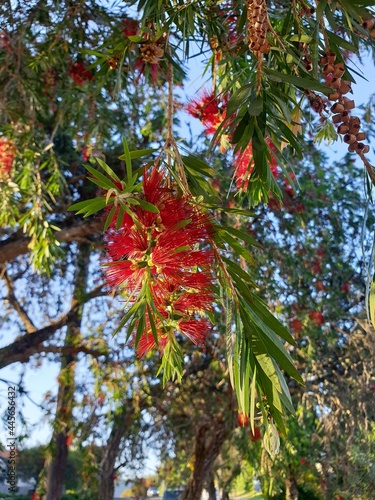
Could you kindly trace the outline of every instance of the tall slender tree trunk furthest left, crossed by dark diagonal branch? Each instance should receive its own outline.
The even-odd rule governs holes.
[[[86,292],[90,248],[82,244],[77,256],[73,301],[80,301]],[[80,336],[83,305],[77,308],[74,318],[67,325],[64,347],[73,347]],[[58,377],[57,407],[54,431],[46,460],[47,480],[45,500],[60,500],[64,490],[69,440],[71,439],[72,411],[75,390],[76,355],[63,354]]]

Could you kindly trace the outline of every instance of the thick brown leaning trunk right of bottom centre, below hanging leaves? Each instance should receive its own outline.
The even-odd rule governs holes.
[[[182,493],[181,500],[201,498],[205,479],[220,453],[220,449],[229,435],[229,426],[224,421],[202,424],[195,438],[194,470]]]

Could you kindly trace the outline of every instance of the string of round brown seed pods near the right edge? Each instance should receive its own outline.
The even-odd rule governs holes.
[[[361,120],[358,116],[351,115],[351,110],[355,108],[355,102],[346,97],[346,94],[351,91],[351,82],[342,79],[345,73],[345,64],[335,61],[336,54],[334,52],[327,52],[320,59],[323,65],[323,74],[329,80],[328,85],[333,90],[328,98],[330,101],[336,101],[331,107],[332,121],[337,125],[337,132],[343,135],[343,141],[348,144],[349,152],[368,153],[370,147],[361,142],[366,139],[366,133],[361,132]]]

